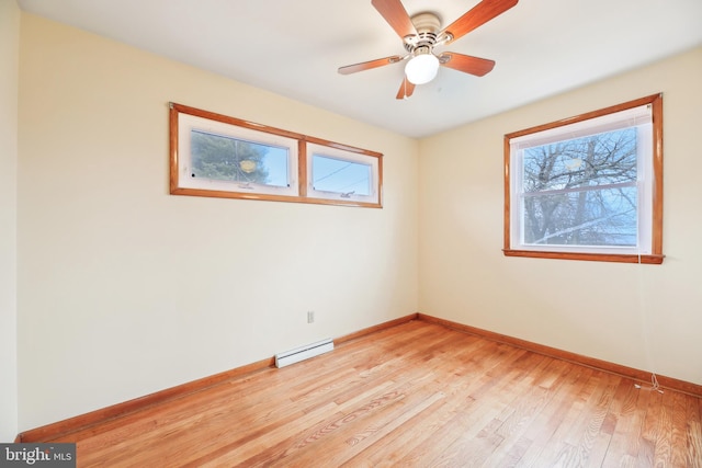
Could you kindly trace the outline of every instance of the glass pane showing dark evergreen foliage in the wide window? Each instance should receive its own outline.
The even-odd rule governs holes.
[[[287,148],[191,130],[192,178],[290,185]]]

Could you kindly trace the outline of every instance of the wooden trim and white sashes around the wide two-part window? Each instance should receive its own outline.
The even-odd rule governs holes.
[[[278,136],[297,141],[296,157],[296,194],[295,195],[279,195],[271,193],[250,193],[240,192],[236,190],[208,190],[202,187],[185,186],[186,184],[181,181],[181,162],[185,158],[183,151],[190,151],[190,148],[180,148],[180,115],[185,114],[189,116],[201,117],[207,121],[214,121],[216,123],[224,123],[236,127],[246,128],[249,130],[261,133],[263,136]],[[216,198],[239,198],[239,199],[260,199],[271,202],[293,202],[293,203],[308,203],[319,205],[338,205],[338,206],[355,206],[365,208],[382,208],[383,207],[383,155],[376,151],[371,151],[362,148],[356,148],[349,145],[338,144],[321,138],[312,137],[308,135],[298,134],[295,132],[288,132],[281,128],[270,127],[241,118],[230,117],[223,114],[217,114],[210,111],[203,111],[201,109],[191,107],[183,104],[169,103],[169,127],[170,127],[170,193],[171,195],[190,195],[190,196],[204,196]],[[359,157],[369,158],[369,163],[374,168],[373,180],[373,196],[364,197],[363,199],[353,197],[333,197],[330,195],[315,196],[309,194],[308,190],[308,167],[312,163],[312,155],[308,156],[308,145],[320,145],[333,149],[337,153],[347,152],[350,158],[358,159]]]

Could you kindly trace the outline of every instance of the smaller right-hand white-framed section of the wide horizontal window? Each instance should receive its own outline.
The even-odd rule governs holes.
[[[307,145],[307,196],[380,204],[381,159],[339,147]]]

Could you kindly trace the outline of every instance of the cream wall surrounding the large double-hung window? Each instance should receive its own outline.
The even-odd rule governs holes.
[[[697,48],[422,140],[420,311],[702,384],[700,82]],[[505,258],[503,135],[657,92],[664,264]]]

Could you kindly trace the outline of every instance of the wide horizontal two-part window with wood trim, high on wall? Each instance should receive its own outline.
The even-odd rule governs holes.
[[[170,193],[382,207],[383,155],[170,104]]]

